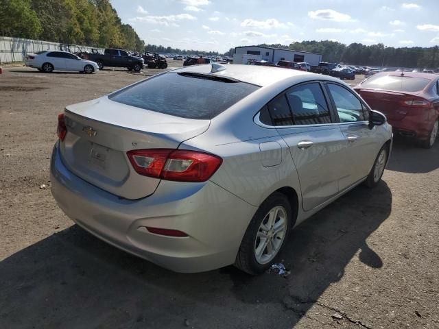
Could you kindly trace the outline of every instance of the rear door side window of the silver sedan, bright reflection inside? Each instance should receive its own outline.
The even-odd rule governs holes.
[[[296,125],[331,123],[331,115],[320,84],[296,86],[287,90],[286,95]]]

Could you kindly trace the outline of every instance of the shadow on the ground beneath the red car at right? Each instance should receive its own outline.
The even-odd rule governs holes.
[[[429,173],[439,168],[439,138],[423,149],[409,138],[395,138],[387,169],[403,173]]]

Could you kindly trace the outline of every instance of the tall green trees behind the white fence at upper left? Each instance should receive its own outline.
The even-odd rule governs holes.
[[[144,51],[110,0],[0,0],[0,36]]]

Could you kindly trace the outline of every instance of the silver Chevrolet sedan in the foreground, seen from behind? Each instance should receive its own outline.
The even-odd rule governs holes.
[[[361,182],[376,186],[392,146],[384,115],[334,77],[220,64],[67,106],[58,136],[60,208],[180,272],[262,273],[294,226]]]

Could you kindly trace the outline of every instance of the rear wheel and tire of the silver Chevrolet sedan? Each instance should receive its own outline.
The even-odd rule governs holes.
[[[285,246],[293,222],[292,214],[291,205],[282,193],[275,192],[265,199],[248,225],[239,246],[235,266],[251,275],[269,269]],[[276,223],[280,230],[278,233],[274,231]],[[269,249],[272,250],[271,253]]]

